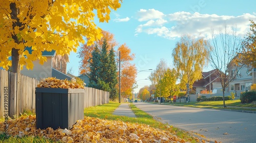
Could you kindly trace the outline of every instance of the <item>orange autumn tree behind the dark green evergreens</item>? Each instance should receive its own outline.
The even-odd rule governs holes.
[[[121,92],[122,95],[126,97],[126,95],[131,95],[133,90],[133,85],[135,83],[135,78],[137,75],[136,66],[131,64],[130,62],[134,60],[135,54],[131,53],[131,49],[124,43],[119,45],[116,39],[114,38],[114,34],[103,31],[103,37],[100,40],[95,41],[92,45],[84,44],[80,47],[78,53],[78,57],[80,60],[80,74],[88,74],[90,72],[89,68],[89,59],[92,57],[93,50],[97,47],[101,49],[104,39],[108,45],[108,51],[113,47],[116,49],[116,61],[119,63],[119,51],[121,53],[120,62],[121,62]],[[118,63],[116,64],[118,66]],[[119,73],[118,73],[119,74]],[[119,77],[117,77],[119,78]],[[119,80],[119,79],[118,79]],[[117,85],[119,87],[119,83]],[[118,88],[117,87],[117,88]]]

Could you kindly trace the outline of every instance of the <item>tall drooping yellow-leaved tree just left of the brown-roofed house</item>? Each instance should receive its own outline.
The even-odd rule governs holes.
[[[202,78],[203,66],[208,57],[207,45],[204,38],[196,39],[188,35],[176,43],[173,57],[181,89],[190,88],[196,80]]]

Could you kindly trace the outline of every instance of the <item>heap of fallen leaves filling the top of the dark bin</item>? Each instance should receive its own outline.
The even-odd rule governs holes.
[[[45,88],[84,88],[83,85],[68,80],[60,80],[53,77],[45,78],[37,84],[37,87]]]

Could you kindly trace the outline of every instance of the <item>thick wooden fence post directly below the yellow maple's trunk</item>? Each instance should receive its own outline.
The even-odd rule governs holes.
[[[16,114],[17,74],[9,72],[8,75],[10,77],[9,116],[13,118]]]

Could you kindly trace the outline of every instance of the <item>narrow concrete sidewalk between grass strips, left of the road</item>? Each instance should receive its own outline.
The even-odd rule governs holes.
[[[119,116],[129,116],[129,117],[136,117],[132,109],[129,107],[129,104],[122,103],[116,108],[116,110],[113,112],[114,115]]]

